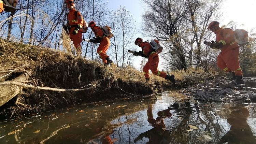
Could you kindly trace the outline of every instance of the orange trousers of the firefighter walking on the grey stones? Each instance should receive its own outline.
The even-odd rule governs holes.
[[[238,57],[239,47],[232,48],[224,54],[221,52],[217,57],[217,66],[224,72],[232,71],[237,76],[243,75]]]

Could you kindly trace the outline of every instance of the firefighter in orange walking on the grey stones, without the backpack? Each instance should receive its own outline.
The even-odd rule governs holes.
[[[211,48],[221,49],[217,57],[217,66],[224,72],[232,72],[232,80],[236,79],[237,84],[244,84],[243,73],[239,64],[239,46],[234,41],[234,32],[231,29],[223,29],[219,27],[217,21],[209,24],[208,30],[216,34],[216,43]]]

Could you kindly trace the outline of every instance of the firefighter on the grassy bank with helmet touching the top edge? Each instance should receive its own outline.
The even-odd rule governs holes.
[[[65,0],[68,13],[68,23],[63,26],[66,32],[69,34],[70,39],[75,45],[76,54],[82,55],[81,42],[82,42],[82,27],[83,27],[83,17],[80,12],[76,12],[74,0]],[[75,15],[76,12],[76,15]]]

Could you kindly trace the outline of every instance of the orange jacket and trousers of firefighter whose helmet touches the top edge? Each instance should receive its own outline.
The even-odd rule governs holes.
[[[84,24],[83,17],[80,12],[76,13],[75,16],[75,9],[69,10],[68,14],[68,24],[71,26],[71,29],[69,30],[70,39],[73,41],[73,44],[75,45],[76,52],[81,53],[81,42],[82,42],[82,27]],[[79,26],[80,30],[76,35],[72,34],[72,32],[75,29],[75,26]]]

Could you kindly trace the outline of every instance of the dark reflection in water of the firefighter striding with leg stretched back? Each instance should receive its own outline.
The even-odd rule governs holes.
[[[169,131],[165,130],[166,126],[163,119],[171,116],[172,114],[170,113],[170,110],[167,109],[157,112],[157,118],[154,119],[152,105],[149,105],[147,110],[147,121],[154,128],[139,134],[139,136],[134,139],[134,143],[145,137],[149,139],[147,144],[169,144],[171,136]]]

